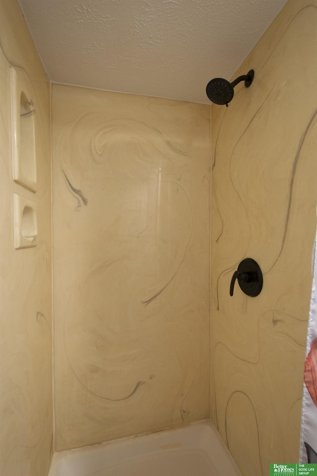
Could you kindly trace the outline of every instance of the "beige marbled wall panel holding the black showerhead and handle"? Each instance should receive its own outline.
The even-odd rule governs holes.
[[[244,476],[298,461],[317,204],[317,2],[291,0],[212,107],[212,419]],[[259,297],[230,280],[254,258]]]

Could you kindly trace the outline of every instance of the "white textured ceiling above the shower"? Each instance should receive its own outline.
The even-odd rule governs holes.
[[[286,0],[19,2],[51,81],[210,104]]]

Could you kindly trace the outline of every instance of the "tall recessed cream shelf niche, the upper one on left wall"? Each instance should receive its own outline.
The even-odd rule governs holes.
[[[11,67],[13,179],[36,192],[35,91],[23,69]]]

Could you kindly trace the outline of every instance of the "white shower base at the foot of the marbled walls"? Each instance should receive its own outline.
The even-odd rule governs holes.
[[[49,476],[242,476],[209,420],[55,453]]]

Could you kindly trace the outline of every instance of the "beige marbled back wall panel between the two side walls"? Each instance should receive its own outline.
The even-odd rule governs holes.
[[[53,86],[56,449],[209,416],[210,108]]]

